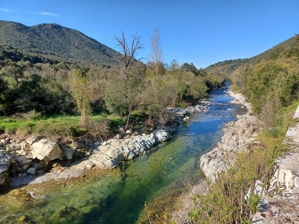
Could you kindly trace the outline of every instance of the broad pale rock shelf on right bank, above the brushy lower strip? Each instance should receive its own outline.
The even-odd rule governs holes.
[[[248,152],[248,146],[254,142],[255,137],[262,130],[262,123],[257,117],[250,115],[252,105],[246,102],[245,97],[230,90],[227,93],[235,98],[231,103],[247,107],[248,113],[237,115],[236,122],[226,124],[221,141],[212,151],[200,158],[200,168],[205,177],[212,182],[215,181],[215,174],[226,172],[238,161],[237,154]]]

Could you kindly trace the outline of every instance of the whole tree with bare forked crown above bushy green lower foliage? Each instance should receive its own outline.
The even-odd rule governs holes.
[[[121,31],[121,37],[114,37],[118,41],[122,60],[117,60],[122,66],[108,74],[105,93],[107,108],[112,113],[127,116],[126,127],[129,125],[131,112],[143,104],[144,66],[141,59],[136,59],[137,51],[144,49],[141,37],[137,33],[132,35],[132,44],[128,44]],[[138,63],[139,62],[139,63]]]

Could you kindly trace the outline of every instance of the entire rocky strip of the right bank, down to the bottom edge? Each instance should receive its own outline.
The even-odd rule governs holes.
[[[258,144],[255,142],[257,134],[262,131],[262,122],[257,117],[250,115],[252,105],[246,102],[245,97],[239,93],[233,93],[231,90],[226,92],[233,96],[233,104],[245,106],[248,112],[245,115],[237,115],[236,122],[229,122],[223,129],[224,135],[215,148],[203,154],[200,158],[200,168],[204,177],[199,180],[199,183],[191,187],[185,194],[177,200],[177,205],[180,208],[172,213],[171,219],[178,223],[184,223],[188,220],[188,213],[193,210],[194,202],[191,198],[196,194],[205,194],[208,189],[208,184],[205,181],[209,179],[211,185],[215,183],[215,174],[226,173],[239,157],[237,154],[248,152],[251,144]],[[192,183],[188,184],[192,186]]]

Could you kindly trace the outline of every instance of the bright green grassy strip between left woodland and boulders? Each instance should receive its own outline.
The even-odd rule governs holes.
[[[146,116],[138,111],[132,113],[132,124],[134,127]],[[119,125],[125,124],[125,118],[109,115],[107,113],[93,114],[90,117],[93,125],[106,127],[105,135],[117,132]],[[0,131],[4,135],[16,135],[26,137],[28,135],[41,135],[59,142],[68,142],[74,138],[85,135],[91,126],[80,125],[80,116],[70,116],[64,114],[54,114],[40,116],[36,119],[19,117],[0,117]],[[105,127],[104,127],[105,126]]]

